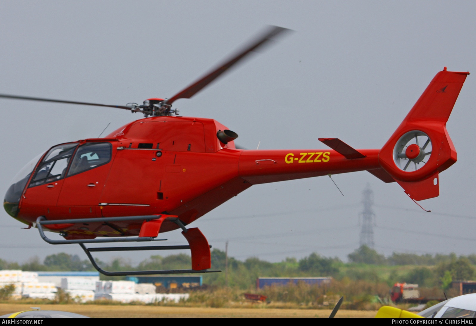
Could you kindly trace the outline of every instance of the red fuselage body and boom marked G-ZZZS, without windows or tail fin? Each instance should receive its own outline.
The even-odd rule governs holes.
[[[53,187],[27,188],[17,218],[35,222],[83,217],[167,213],[193,222],[253,184],[309,178],[328,173],[379,168],[378,150],[359,150],[347,159],[334,150],[241,150],[221,143],[212,119],[158,117],[132,122],[107,138],[107,164],[56,181]],[[79,148],[81,145],[79,145]],[[165,220],[160,232],[178,228]],[[140,223],[89,223],[65,226],[71,237],[137,236]]]

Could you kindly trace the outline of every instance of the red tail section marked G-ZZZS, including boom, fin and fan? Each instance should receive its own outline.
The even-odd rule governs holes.
[[[384,182],[397,181],[412,199],[436,197],[439,172],[456,162],[446,121],[468,74],[438,72],[380,150],[357,150],[338,138],[319,138],[333,149],[243,150],[239,178],[260,184],[367,170]],[[410,163],[413,171],[407,170]]]

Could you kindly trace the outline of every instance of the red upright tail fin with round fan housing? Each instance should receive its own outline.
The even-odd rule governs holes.
[[[437,197],[438,173],[456,162],[446,121],[467,75],[446,67],[438,72],[378,154],[381,167],[412,199]]]

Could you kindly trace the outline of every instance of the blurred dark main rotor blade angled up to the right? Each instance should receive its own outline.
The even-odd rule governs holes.
[[[244,49],[238,51],[238,53],[233,56],[231,59],[219,65],[216,69],[208,73],[208,75],[198,79],[195,83],[188,86],[186,89],[183,89],[178,94],[174,95],[172,98],[168,99],[166,104],[172,104],[176,99],[190,99],[192,96],[197,94],[200,90],[205,88],[209,83],[218,78],[222,73],[231,68],[234,64],[238,63],[241,59],[245,58],[248,53],[254,52],[259,48],[262,48],[264,45],[268,44],[275,36],[282,34],[283,32],[290,31],[283,27],[278,26],[269,26],[263,35],[259,36],[257,39],[250,41]]]

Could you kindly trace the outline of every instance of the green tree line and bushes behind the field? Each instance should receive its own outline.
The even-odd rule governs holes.
[[[212,286],[238,286],[247,288],[255,284],[257,277],[322,277],[331,276],[337,280],[383,282],[392,286],[395,282],[416,283],[419,286],[447,288],[454,280],[471,280],[475,277],[476,255],[416,255],[393,253],[385,257],[376,250],[361,246],[348,254],[348,262],[337,257],[322,257],[312,253],[302,259],[288,257],[278,263],[270,263],[257,257],[244,261],[228,257],[228,275],[225,275],[225,252],[213,249],[211,263],[213,269],[222,273],[203,275],[205,284]],[[189,269],[191,258],[187,254],[162,257],[151,256],[132,266],[127,259],[113,258],[109,262],[97,260],[101,268],[109,271]],[[43,262],[32,257],[19,264],[0,259],[0,269],[21,269],[33,271],[92,271],[89,260],[81,260],[78,255],[59,253],[45,257]],[[110,279],[109,277],[108,279]],[[119,279],[121,277],[115,277]],[[106,279],[106,278],[105,278]]]

